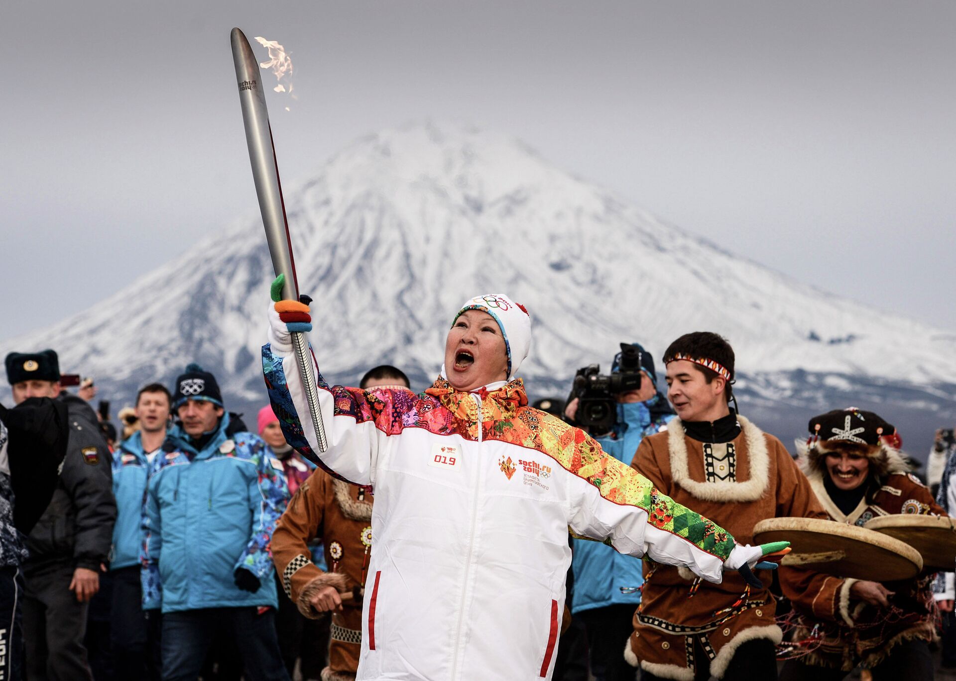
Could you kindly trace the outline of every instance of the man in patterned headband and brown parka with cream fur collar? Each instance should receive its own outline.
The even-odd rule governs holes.
[[[687,333],[663,357],[678,418],[641,440],[631,464],[674,500],[715,519],[741,543],[765,518],[826,518],[790,453],[729,407],[734,355],[706,331]],[[770,570],[764,588],[728,573],[713,585],[688,570],[644,562],[641,607],[624,651],[642,681],[775,679],[782,631]]]

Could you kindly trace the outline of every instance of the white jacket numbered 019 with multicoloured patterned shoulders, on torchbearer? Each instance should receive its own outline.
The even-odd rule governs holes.
[[[551,678],[569,527],[721,581],[733,538],[529,407],[520,379],[460,393],[440,378],[413,394],[319,377],[318,456],[293,355],[266,345],[263,369],[289,443],[375,489],[359,680]]]

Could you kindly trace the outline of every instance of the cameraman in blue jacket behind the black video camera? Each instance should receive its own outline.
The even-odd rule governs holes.
[[[617,419],[610,432],[592,433],[601,449],[628,465],[641,439],[665,430],[666,423],[674,418],[669,403],[658,392],[654,358],[638,343],[631,347],[640,353],[641,386],[615,395]],[[621,352],[615,356],[612,373],[621,371],[621,357]],[[569,419],[575,420],[578,404],[577,397],[568,403],[565,415]],[[586,540],[573,540],[572,549],[572,613],[580,617],[587,630],[591,672],[597,681],[633,679],[634,668],[625,662],[623,653],[634,630],[634,611],[641,603],[641,561]]]

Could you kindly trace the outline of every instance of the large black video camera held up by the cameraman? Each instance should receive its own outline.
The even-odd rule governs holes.
[[[641,351],[628,343],[620,344],[619,372],[603,375],[600,365],[578,369],[571,389],[577,398],[575,420],[595,435],[610,432],[618,420],[621,393],[641,390]]]

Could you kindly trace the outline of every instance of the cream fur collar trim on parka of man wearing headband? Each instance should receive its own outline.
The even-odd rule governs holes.
[[[770,455],[764,432],[741,415],[737,416],[747,442],[748,473],[746,482],[701,482],[690,479],[687,469],[687,442],[680,418],[667,424],[667,449],[670,452],[670,475],[691,496],[706,501],[755,501],[764,496],[770,482]]]

